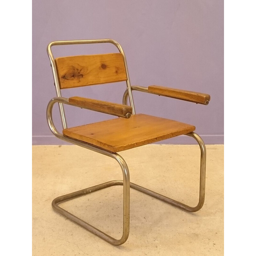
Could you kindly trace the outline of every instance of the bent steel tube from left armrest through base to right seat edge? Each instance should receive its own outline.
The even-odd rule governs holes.
[[[66,98],[60,98],[60,97],[56,97],[53,98],[48,106],[47,106],[47,111],[46,111],[46,115],[47,115],[47,122],[48,125],[52,131],[52,133],[59,139],[61,140],[65,140],[68,141],[72,144],[78,145],[80,147],[83,148],[87,148],[90,149],[92,151],[98,152],[100,154],[103,154],[105,156],[109,156],[111,158],[114,158],[118,164],[120,165],[121,169],[122,169],[122,173],[123,173],[123,180],[111,180],[90,188],[85,188],[64,196],[59,196],[57,198],[55,198],[52,201],[52,207],[55,211],[59,212],[60,214],[64,215],[65,217],[67,217],[68,219],[76,222],[78,225],[82,226],[83,228],[89,230],[90,232],[92,232],[93,234],[99,236],[100,238],[104,239],[105,241],[107,241],[110,244],[113,245],[121,245],[123,244],[129,236],[129,230],[130,230],[130,187],[134,188],[142,193],[145,193],[149,196],[153,196],[161,201],[164,201],[168,204],[172,204],[182,210],[188,211],[188,212],[196,212],[198,210],[200,210],[204,204],[204,197],[205,197],[205,172],[206,172],[206,148],[204,145],[204,141],[200,138],[199,135],[197,135],[195,132],[190,132],[186,135],[193,137],[197,143],[199,144],[200,147],[200,151],[201,151],[201,158],[200,158],[200,185],[199,185],[199,201],[198,204],[195,207],[191,207],[188,206],[186,204],[183,204],[181,202],[178,202],[176,200],[173,200],[169,197],[163,196],[161,194],[158,194],[152,190],[149,190],[147,188],[141,187],[137,184],[131,183],[130,182],[130,174],[129,174],[129,169],[128,166],[126,164],[126,162],[124,161],[123,157],[120,156],[117,153],[112,153],[108,150],[105,150],[103,148],[98,148],[96,146],[93,146],[91,144],[85,143],[83,141],[80,140],[75,140],[69,137],[65,137],[63,134],[61,134],[60,132],[58,132],[58,130],[56,129],[56,127],[54,126],[53,120],[52,120],[52,108],[53,105],[55,103],[64,103],[64,104],[69,104],[68,103],[68,99]],[[84,220],[79,219],[78,217],[76,217],[75,215],[67,212],[66,210],[64,210],[63,208],[61,208],[58,204],[66,201],[66,200],[70,200],[74,197],[77,196],[82,196],[103,188],[107,188],[110,186],[115,186],[115,185],[123,185],[123,235],[120,239],[115,239],[109,235],[107,235],[106,233],[104,233],[103,231],[93,227],[92,225],[90,225],[89,223],[85,222]]]

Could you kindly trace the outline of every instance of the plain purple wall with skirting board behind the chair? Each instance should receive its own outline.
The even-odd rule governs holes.
[[[33,144],[66,144],[52,135],[46,122],[46,106],[56,96],[47,45],[55,40],[100,38],[122,45],[132,85],[156,84],[211,95],[204,106],[133,92],[137,113],[193,124],[205,143],[223,144],[223,19],[223,0],[33,1]],[[55,57],[116,52],[111,44],[52,49]],[[87,86],[62,90],[62,96],[122,103],[125,88],[125,83]],[[69,127],[111,118],[72,106],[65,111]],[[57,105],[53,117],[60,123]],[[194,144],[194,140],[179,136],[161,143]]]

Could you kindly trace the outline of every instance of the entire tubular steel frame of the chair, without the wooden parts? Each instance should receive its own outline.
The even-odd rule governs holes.
[[[206,148],[204,145],[204,141],[201,139],[201,137],[196,134],[195,132],[190,132],[187,133],[185,135],[193,137],[199,147],[200,147],[200,151],[201,151],[201,158],[200,158],[200,184],[199,184],[199,201],[198,204],[195,207],[191,207],[188,206],[186,204],[180,203],[176,200],[173,200],[169,197],[160,195],[154,191],[151,191],[147,188],[143,188],[137,184],[134,184],[132,182],[130,182],[130,174],[129,174],[129,169],[128,166],[126,164],[126,162],[124,161],[123,157],[120,156],[117,153],[112,153],[108,150],[105,150],[103,148],[99,148],[96,147],[94,145],[88,144],[86,142],[80,141],[80,140],[76,140],[76,139],[72,139],[69,137],[64,136],[62,133],[58,132],[58,130],[56,129],[55,125],[53,124],[53,120],[52,120],[52,108],[53,105],[55,103],[59,103],[59,108],[60,108],[60,116],[61,116],[61,121],[62,121],[62,126],[63,129],[67,128],[67,122],[66,122],[66,117],[65,117],[65,112],[64,112],[64,108],[63,108],[63,104],[68,104],[71,105],[68,102],[68,99],[61,97],[61,92],[60,92],[60,85],[59,85],[59,80],[58,80],[58,75],[57,75],[57,69],[56,69],[56,65],[55,65],[55,60],[53,58],[52,55],[52,51],[51,51],[51,46],[53,45],[65,45],[65,44],[94,44],[94,43],[111,43],[114,44],[120,53],[123,54],[124,56],[124,64],[125,64],[125,69],[126,69],[126,75],[127,75],[127,81],[126,81],[126,85],[127,85],[127,89],[124,92],[124,97],[123,97],[123,104],[127,105],[127,98],[129,96],[130,99],[130,104],[132,106],[132,114],[135,114],[135,108],[134,108],[134,103],[133,103],[133,98],[132,98],[132,90],[137,90],[137,91],[142,91],[142,92],[147,92],[148,88],[146,87],[142,87],[142,86],[131,86],[130,84],[130,78],[129,78],[129,74],[128,74],[128,69],[127,69],[127,63],[126,63],[126,58],[124,55],[124,51],[122,49],[122,47],[120,46],[120,44],[118,44],[116,41],[112,40],[112,39],[99,39],[99,40],[73,40],[73,41],[55,41],[52,42],[48,45],[47,47],[47,53],[49,55],[49,58],[51,60],[51,66],[52,66],[52,71],[53,71],[53,77],[54,77],[54,83],[55,83],[55,87],[56,87],[56,92],[57,92],[57,97],[53,98],[52,100],[50,100],[48,106],[47,106],[47,111],[46,111],[46,115],[47,115],[47,122],[48,125],[52,131],[52,133],[59,138],[60,140],[65,140],[68,141],[72,144],[75,144],[77,146],[83,147],[83,148],[87,148],[90,149],[92,151],[98,152],[100,154],[103,154],[105,156],[109,156],[111,158],[114,158],[118,164],[121,167],[121,170],[123,172],[123,180],[111,180],[90,188],[85,188],[64,196],[59,196],[57,198],[55,198],[52,201],[52,208],[59,212],[60,214],[64,215],[65,217],[67,217],[68,219],[76,222],[78,225],[82,226],[83,228],[91,231],[93,234],[99,236],[100,238],[104,239],[105,241],[107,241],[110,244],[113,245],[120,245],[123,244],[129,236],[129,230],[130,230],[130,188],[134,188],[136,190],[139,190],[149,196],[153,196],[161,201],[164,201],[168,204],[172,204],[176,207],[179,207],[182,210],[188,211],[188,212],[196,212],[198,210],[200,210],[204,204],[204,197],[205,197],[205,172],[206,172]],[[77,196],[82,196],[103,188],[108,188],[111,186],[116,186],[116,185],[123,185],[123,235],[120,239],[115,239],[109,235],[107,235],[106,233],[102,232],[101,230],[93,227],[92,225],[90,225],[89,223],[85,222],[84,220],[79,219],[78,217],[76,217],[75,215],[67,212],[66,210],[64,210],[63,208],[61,208],[58,204],[66,201],[66,200],[70,200],[72,198],[75,198]]]

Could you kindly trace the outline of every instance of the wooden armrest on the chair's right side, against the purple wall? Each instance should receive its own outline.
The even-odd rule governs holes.
[[[158,85],[148,86],[148,92],[153,94],[158,94],[161,96],[174,98],[174,99],[186,100],[190,102],[204,104],[204,105],[208,105],[211,99],[211,96],[209,94],[184,91],[184,90],[173,89],[173,88],[158,86]]]

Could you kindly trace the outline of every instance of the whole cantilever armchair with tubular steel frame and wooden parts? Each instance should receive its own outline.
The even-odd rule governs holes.
[[[54,59],[51,51],[51,47],[56,45],[95,43],[114,44],[119,50],[119,53],[81,55]],[[108,243],[114,245],[123,244],[129,236],[130,188],[139,190],[188,212],[196,212],[200,210],[204,204],[205,195],[206,149],[203,140],[194,132],[196,127],[166,118],[136,114],[132,91],[137,90],[153,93],[204,105],[209,103],[210,95],[156,85],[148,87],[131,86],[124,51],[121,45],[112,39],[55,41],[48,45],[47,53],[51,61],[54,84],[57,93],[57,97],[52,98],[47,106],[47,122],[50,130],[60,140],[65,140],[74,145],[114,158],[120,165],[123,173],[123,180],[111,180],[55,198],[52,201],[53,209],[68,219],[76,222],[83,228],[91,231],[93,234],[106,240]],[[120,81],[126,81],[127,85],[124,92],[123,104],[87,99],[78,96],[74,96],[69,99],[61,96],[62,89]],[[130,106],[128,106],[127,103],[128,98]],[[62,132],[59,132],[56,129],[52,119],[52,108],[55,103],[58,103],[60,108],[63,127]],[[65,104],[107,113],[118,116],[118,118],[68,128],[64,112]],[[200,191],[198,204],[196,206],[188,206],[130,182],[128,166],[123,157],[117,153],[122,150],[139,147],[182,134],[193,137],[199,144],[201,151]],[[116,239],[105,234],[103,231],[93,227],[89,223],[79,219],[59,206],[59,204],[65,200],[70,200],[77,196],[86,195],[93,191],[116,185],[123,186],[123,234],[121,238]]]

